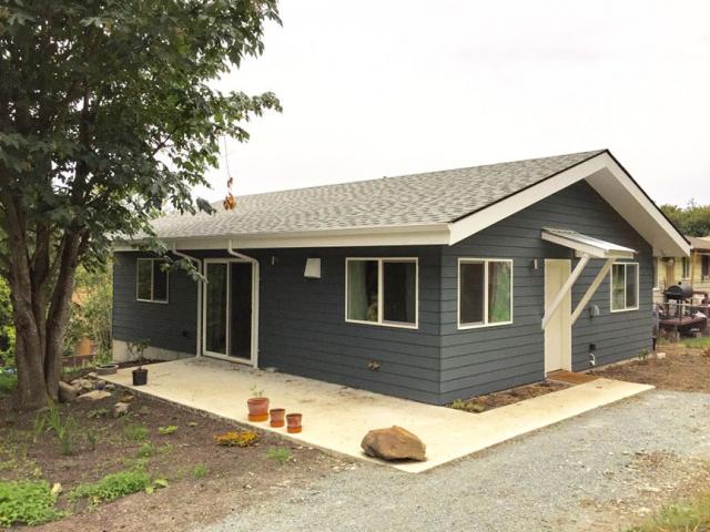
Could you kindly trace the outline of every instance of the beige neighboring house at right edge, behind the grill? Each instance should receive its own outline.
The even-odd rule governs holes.
[[[686,236],[690,242],[690,257],[656,258],[656,303],[663,301],[663,290],[670,285],[691,285],[693,291],[710,294],[710,236]],[[696,296],[699,303],[702,296]]]

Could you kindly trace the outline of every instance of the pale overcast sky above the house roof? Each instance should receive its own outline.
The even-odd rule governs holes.
[[[230,141],[236,194],[609,147],[710,203],[710,1],[284,0],[220,83],[284,112]],[[210,198],[224,195],[224,164]]]

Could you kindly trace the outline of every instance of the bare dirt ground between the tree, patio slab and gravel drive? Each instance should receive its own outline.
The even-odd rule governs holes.
[[[36,415],[13,412],[9,400],[0,398],[0,479],[60,483],[62,495],[58,508],[72,512],[32,530],[189,530],[196,523],[216,521],[250,505],[287,497],[290,490],[307,488],[334,471],[356,468],[347,460],[297,446],[271,432],[258,432],[260,441],[254,447],[219,447],[214,434],[235,430],[234,424],[150,398],[135,397],[125,418],[99,416],[101,409],[110,412],[121,395],[116,391],[101,401],[59,407],[62,415],[78,422],[71,456],[61,454],[52,431],[42,431],[34,440]],[[128,436],[130,428],[136,426],[148,429],[140,441]],[[169,426],[178,429],[172,434],[161,434],[159,427]],[[93,450],[87,437],[90,431],[97,434]],[[288,449],[291,458],[280,464],[267,456],[272,447]],[[168,479],[166,488],[152,494],[134,493],[95,509],[67,500],[65,494],[79,483],[124,470],[142,456],[154,478]]]

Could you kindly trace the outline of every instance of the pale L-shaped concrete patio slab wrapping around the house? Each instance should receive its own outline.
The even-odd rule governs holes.
[[[133,388],[131,369],[105,379]],[[272,429],[267,422],[250,422],[246,399],[254,386],[264,390],[272,408],[303,413],[303,432],[292,436],[285,429]],[[136,391],[377,463],[387,462],[362,452],[363,437],[371,429],[398,424],[426,443],[427,460],[388,466],[416,473],[651,388],[600,378],[483,413],[468,413],[201,357],[151,365],[149,383]]]

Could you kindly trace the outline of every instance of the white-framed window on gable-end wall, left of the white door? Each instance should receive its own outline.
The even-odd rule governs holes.
[[[513,323],[513,260],[458,259],[458,328]]]

